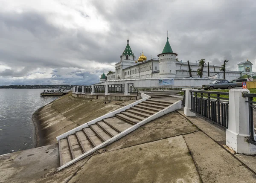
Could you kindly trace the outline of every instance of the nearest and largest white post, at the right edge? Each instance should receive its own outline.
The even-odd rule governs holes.
[[[242,92],[247,89],[234,88],[229,91],[228,129],[226,130],[226,145],[238,154],[256,154],[256,146],[246,141],[249,138],[249,107],[247,97]],[[255,134],[254,139],[256,139]]]

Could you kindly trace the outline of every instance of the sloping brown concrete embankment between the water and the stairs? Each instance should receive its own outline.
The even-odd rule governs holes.
[[[57,143],[57,136],[132,102],[62,96],[33,114],[37,147]]]

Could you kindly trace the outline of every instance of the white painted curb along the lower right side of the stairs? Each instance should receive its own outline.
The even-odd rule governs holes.
[[[146,98],[144,98],[146,99]],[[115,142],[116,140],[124,137],[125,135],[131,133],[132,131],[136,130],[137,128],[139,128],[142,125],[145,125],[146,123],[159,118],[160,116],[163,116],[165,114],[168,114],[170,112],[173,112],[175,110],[181,109],[181,101],[177,101],[174,104],[164,108],[163,110],[160,110],[159,112],[153,114],[152,116],[149,116],[148,118],[144,119],[143,121],[137,123],[136,125],[131,126],[130,128],[126,129],[125,131],[122,131],[120,134],[117,134],[116,136],[112,137],[111,139],[108,139],[105,142],[102,142],[100,145],[96,146],[95,148],[91,149],[90,151],[87,151],[84,154],[81,154],[79,157],[76,157],[75,159],[71,160],[70,162],[64,164],[63,166],[58,168],[58,171],[62,170],[63,168],[67,168],[68,166],[72,165],[73,163],[76,163],[77,161],[83,159],[84,157],[89,156],[90,154],[92,154],[93,152],[97,151],[100,148],[105,147],[106,145],[109,145],[113,142]]]

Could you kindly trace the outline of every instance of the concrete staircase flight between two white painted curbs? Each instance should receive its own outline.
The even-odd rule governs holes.
[[[170,105],[172,105],[170,102],[148,99],[123,112],[116,113],[114,117],[102,119],[60,139],[58,141],[60,165],[63,166]]]

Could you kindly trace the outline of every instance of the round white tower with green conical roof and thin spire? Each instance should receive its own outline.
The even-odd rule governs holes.
[[[172,51],[169,43],[168,31],[167,41],[163,48],[162,53],[158,54],[159,57],[159,76],[160,78],[174,78],[176,77],[176,56],[178,54]]]

